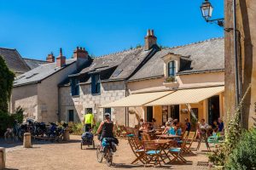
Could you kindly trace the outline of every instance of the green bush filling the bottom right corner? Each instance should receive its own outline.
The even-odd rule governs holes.
[[[231,151],[226,169],[256,169],[256,128],[243,132],[236,148]]]

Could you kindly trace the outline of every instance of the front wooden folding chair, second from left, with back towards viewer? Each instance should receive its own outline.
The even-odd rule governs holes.
[[[160,146],[155,144],[154,141],[143,141],[143,146],[146,158],[146,163],[144,164],[144,166],[146,167],[148,164],[154,164],[154,167],[156,167],[157,165],[161,166]]]

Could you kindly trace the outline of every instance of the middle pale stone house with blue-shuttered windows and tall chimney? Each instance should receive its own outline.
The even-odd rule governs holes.
[[[148,31],[143,48],[96,57],[82,71],[69,75],[69,80],[59,85],[60,120],[80,122],[85,112],[92,111],[101,121],[103,114],[109,112],[114,122],[127,124],[124,107],[101,106],[125,98],[127,80],[158,50],[154,31]]]

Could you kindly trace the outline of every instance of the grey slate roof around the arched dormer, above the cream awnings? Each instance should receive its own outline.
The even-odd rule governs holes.
[[[161,58],[169,53],[181,54],[182,59],[191,61],[191,65],[183,66],[183,70],[177,72],[177,75],[203,71],[224,71],[224,38],[212,38],[204,42],[195,42],[158,51],[129,80],[163,77],[164,60]]]

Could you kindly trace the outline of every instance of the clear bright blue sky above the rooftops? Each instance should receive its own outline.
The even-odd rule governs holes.
[[[77,46],[98,56],[143,45],[148,28],[168,47],[223,37],[221,27],[202,19],[202,1],[1,0],[0,47],[34,59],[63,48],[69,58]],[[224,1],[211,3],[212,18],[223,17]]]

